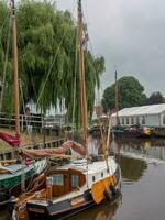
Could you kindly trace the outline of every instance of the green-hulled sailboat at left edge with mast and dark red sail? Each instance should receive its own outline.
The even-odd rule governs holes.
[[[0,139],[6,141],[15,151],[20,147],[20,109],[19,109],[19,76],[18,76],[18,46],[16,46],[16,19],[14,0],[11,0],[12,26],[13,26],[13,57],[14,57],[14,110],[15,135],[0,132]],[[23,160],[22,160],[23,161]],[[19,196],[21,190],[47,166],[46,158],[35,163],[18,163],[18,160],[0,161],[0,207],[9,202],[11,196]],[[22,180],[22,175],[24,180]]]

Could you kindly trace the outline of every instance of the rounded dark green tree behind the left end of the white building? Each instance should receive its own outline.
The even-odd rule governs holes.
[[[112,84],[110,87],[107,87],[103,92],[102,106],[105,112],[107,112],[109,109],[116,108],[114,88],[116,85]],[[120,78],[118,80],[118,90],[119,109],[141,106],[146,98],[143,86],[133,76],[124,76]]]

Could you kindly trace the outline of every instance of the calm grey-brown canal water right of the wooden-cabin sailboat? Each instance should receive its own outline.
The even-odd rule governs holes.
[[[165,140],[113,141],[111,152],[122,170],[122,196],[95,206],[73,220],[165,220]],[[9,220],[0,211],[0,220]]]

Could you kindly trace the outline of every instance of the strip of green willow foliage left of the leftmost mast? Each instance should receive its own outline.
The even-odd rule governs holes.
[[[11,16],[6,2],[0,2],[0,111],[13,111]],[[3,96],[2,96],[3,95]],[[3,107],[3,108],[2,108]]]

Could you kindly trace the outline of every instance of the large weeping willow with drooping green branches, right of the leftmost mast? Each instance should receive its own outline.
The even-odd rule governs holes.
[[[76,100],[79,99],[77,26],[72,14],[58,11],[55,3],[28,0],[19,3],[16,14],[19,74],[24,102],[33,100],[45,111],[65,100],[69,116],[76,105],[78,119],[79,105],[73,101],[75,87]],[[87,50],[85,55],[88,111],[91,113],[105,59],[95,58]]]

